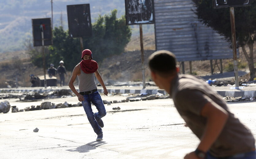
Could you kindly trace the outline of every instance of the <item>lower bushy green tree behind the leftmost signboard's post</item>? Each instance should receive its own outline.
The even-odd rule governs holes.
[[[80,43],[78,39],[70,38],[68,31],[64,31],[62,27],[55,27],[52,31],[52,46],[44,46],[46,69],[50,63],[58,67],[59,61],[64,61],[67,70],[72,71],[74,66],[78,64],[80,57]],[[32,47],[25,44],[32,63],[37,67],[43,67],[42,47]]]

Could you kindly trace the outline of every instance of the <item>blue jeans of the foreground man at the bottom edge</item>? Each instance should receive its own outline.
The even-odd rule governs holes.
[[[247,153],[239,153],[230,157],[213,157],[209,152],[206,154],[206,159],[255,159],[256,151],[251,151]]]

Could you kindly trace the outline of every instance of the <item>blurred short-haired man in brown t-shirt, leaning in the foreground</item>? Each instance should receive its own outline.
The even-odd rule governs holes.
[[[255,159],[255,139],[208,84],[191,75],[178,75],[176,58],[167,50],[149,57],[152,79],[173,98],[178,113],[200,139],[184,159]]]

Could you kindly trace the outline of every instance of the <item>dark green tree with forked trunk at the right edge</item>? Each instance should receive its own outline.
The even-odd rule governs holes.
[[[231,42],[231,23],[229,8],[213,9],[212,0],[192,0],[196,9],[198,19],[206,26],[213,28],[227,41]],[[256,40],[256,0],[250,0],[251,6],[235,7],[235,29],[236,42],[242,47],[243,53],[248,61],[250,80],[255,78],[253,46]],[[249,47],[247,53],[245,46]]]

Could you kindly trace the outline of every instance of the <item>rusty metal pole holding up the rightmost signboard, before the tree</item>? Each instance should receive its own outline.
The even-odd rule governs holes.
[[[237,53],[236,53],[236,41],[235,41],[235,13],[234,13],[234,7],[230,7],[229,10],[230,10],[230,21],[231,21],[231,35],[232,35],[232,47],[233,47],[234,72],[235,72],[235,88],[239,89]]]

